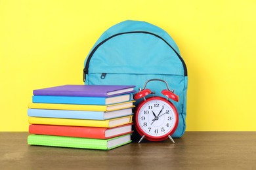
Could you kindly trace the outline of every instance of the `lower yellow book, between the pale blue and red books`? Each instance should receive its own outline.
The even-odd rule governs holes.
[[[133,122],[133,116],[113,118],[109,120],[28,117],[28,122],[30,124],[48,124],[62,126],[116,127]]]

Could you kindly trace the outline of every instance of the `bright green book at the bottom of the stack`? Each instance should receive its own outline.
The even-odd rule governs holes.
[[[131,134],[122,135],[111,139],[89,139],[82,137],[62,137],[53,135],[28,136],[28,144],[70,148],[110,150],[127,143],[131,143]]]

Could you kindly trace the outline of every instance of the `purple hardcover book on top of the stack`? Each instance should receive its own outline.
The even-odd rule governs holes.
[[[33,90],[33,95],[63,95],[85,97],[112,97],[133,93],[135,86],[117,85],[64,85]]]

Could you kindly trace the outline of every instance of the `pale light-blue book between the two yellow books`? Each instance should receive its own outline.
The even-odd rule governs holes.
[[[114,110],[114,111],[110,111],[110,112],[80,111],[80,110],[28,109],[28,116],[43,117],[43,118],[108,120],[108,119],[112,119],[112,118],[129,116],[132,114],[133,114],[133,111],[131,108]]]

